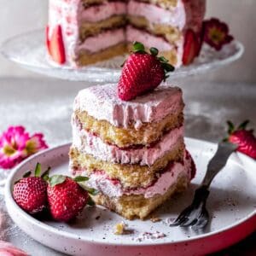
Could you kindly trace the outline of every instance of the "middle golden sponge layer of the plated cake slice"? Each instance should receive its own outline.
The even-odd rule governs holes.
[[[74,170],[86,170],[85,172],[88,174],[94,171],[104,171],[108,174],[108,177],[119,179],[124,188],[147,187],[157,178],[157,173],[164,170],[171,161],[183,160],[184,148],[182,138],[172,151],[156,160],[153,166],[113,164],[98,160],[90,154],[81,153],[77,148],[71,148],[71,167]]]

